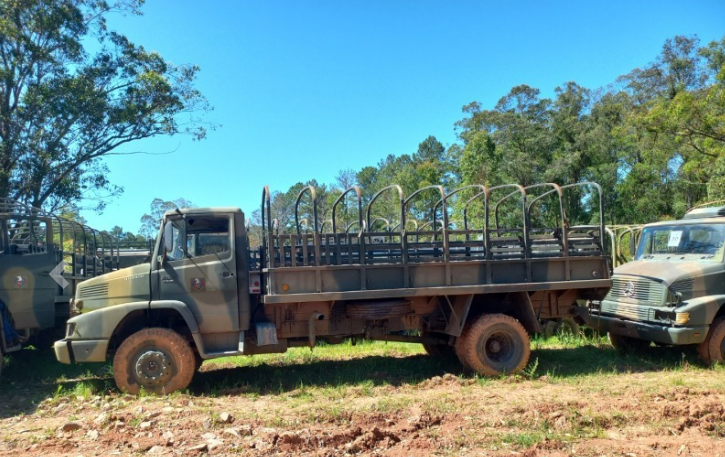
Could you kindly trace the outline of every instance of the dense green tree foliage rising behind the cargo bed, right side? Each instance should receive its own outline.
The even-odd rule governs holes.
[[[391,184],[407,197],[431,185],[451,192],[472,184],[594,181],[603,188],[608,223],[642,223],[681,217],[697,203],[725,198],[725,38],[701,46],[697,37],[677,36],[651,63],[609,87],[588,89],[570,81],[544,98],[537,88],[519,85],[490,109],[471,102],[463,115],[455,124],[459,141],[447,148],[429,136],[417,151],[390,154],[357,171],[364,203]],[[344,184],[333,185],[328,197],[352,183],[351,175],[341,172],[346,178],[338,184]],[[275,194],[273,209],[282,220],[288,220],[292,194],[301,187]],[[461,192],[449,202],[454,225],[472,195],[474,190]],[[406,217],[429,221],[437,199],[435,192],[421,195]],[[598,220],[596,202],[569,192],[570,222]],[[551,208],[542,204],[536,216]],[[471,213],[481,224],[481,208]],[[376,201],[372,216],[395,226],[397,193]]]

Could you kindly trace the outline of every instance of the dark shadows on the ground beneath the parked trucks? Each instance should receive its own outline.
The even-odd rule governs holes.
[[[531,354],[527,374],[558,378],[597,373],[656,372],[699,365],[693,348],[652,347],[641,353],[620,354],[609,346],[540,348]],[[417,384],[446,373],[462,375],[457,360],[426,355],[370,356],[342,361],[311,361],[254,367],[204,365],[189,392],[192,395],[268,395],[301,387],[344,387]],[[535,370],[533,367],[535,365]],[[469,376],[469,375],[465,375]],[[103,395],[117,392],[106,364],[62,365],[51,351],[23,350],[10,357],[0,380],[0,417],[31,414],[39,402],[56,395]]]

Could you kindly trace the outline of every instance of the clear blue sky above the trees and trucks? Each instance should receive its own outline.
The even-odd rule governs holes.
[[[257,209],[262,188],[285,191],[428,135],[448,146],[461,108],[492,108],[513,86],[552,96],[567,81],[598,88],[653,61],[664,41],[725,36],[722,1],[204,1],[147,0],[111,28],[175,64],[201,67],[197,87],[220,124],[134,143],[108,157],[124,188],[99,229],[138,231],[155,197]]]

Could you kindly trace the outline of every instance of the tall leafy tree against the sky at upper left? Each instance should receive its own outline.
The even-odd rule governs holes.
[[[109,14],[140,14],[142,3],[0,2],[0,197],[50,210],[95,198],[102,209],[122,191],[103,156],[142,138],[205,136],[199,69],[107,28]]]

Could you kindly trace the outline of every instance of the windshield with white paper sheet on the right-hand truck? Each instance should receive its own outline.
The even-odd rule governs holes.
[[[723,224],[687,224],[646,227],[637,248],[637,260],[721,262]]]

